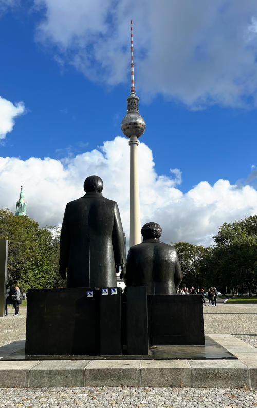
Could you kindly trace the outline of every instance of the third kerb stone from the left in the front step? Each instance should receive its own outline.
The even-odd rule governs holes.
[[[87,386],[140,386],[141,360],[90,361],[84,370]]]

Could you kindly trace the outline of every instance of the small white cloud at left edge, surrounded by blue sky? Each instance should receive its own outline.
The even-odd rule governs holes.
[[[4,139],[6,134],[12,131],[14,119],[24,112],[23,102],[13,104],[0,96],[0,139]]]

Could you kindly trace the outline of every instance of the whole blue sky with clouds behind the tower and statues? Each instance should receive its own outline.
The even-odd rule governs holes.
[[[120,191],[113,187],[116,182],[111,185],[108,180],[106,191],[118,204],[122,202],[127,230],[128,203],[121,197],[122,188],[128,197],[128,163],[124,161],[127,140],[127,145],[119,142],[125,156],[116,165],[115,156],[120,151],[115,152],[114,147],[119,145],[115,138],[122,136],[120,123],[130,92],[128,47],[133,18],[135,86],[146,122],[140,138],[146,145],[142,146],[141,162],[145,174],[153,172],[151,180],[142,176],[140,194],[153,197],[155,187],[160,188],[158,197],[150,200],[152,214],[141,197],[142,222],[157,221],[150,220],[154,216],[162,221],[160,213],[165,209],[169,214],[170,209],[166,241],[208,244],[222,222],[256,212],[257,5],[251,0],[243,5],[218,0],[215,6],[206,6],[206,2],[197,0],[193,7],[186,1],[178,6],[175,1],[163,0],[158,8],[154,1],[141,1],[130,10],[129,4],[127,0],[97,0],[94,6],[82,0],[72,4],[68,0],[0,1],[0,97],[10,101],[13,109],[19,102],[23,106],[23,114],[4,109],[1,116],[0,112],[0,119],[6,115],[3,120],[15,123],[9,131],[2,131],[0,156],[16,158],[8,165],[3,161],[0,181],[6,196],[0,204],[13,209],[23,182],[30,215],[42,225],[60,223],[65,199],[67,202],[81,195],[74,186],[83,185],[87,171],[102,171],[103,179],[106,175],[111,180],[108,171],[112,168],[115,173],[117,167],[124,167],[124,173],[116,174],[116,179],[121,178]],[[102,149],[106,141],[110,143]],[[94,149],[103,155],[99,156],[101,160],[107,158],[107,169],[99,167]],[[76,156],[77,161],[91,164],[84,167],[84,175],[83,165],[79,171],[76,168],[75,181],[69,177],[74,174]],[[39,170],[39,161],[34,160],[33,170],[33,157],[42,159],[44,165],[55,160],[49,168],[53,184],[60,182],[59,176],[54,181],[54,166],[62,166],[65,196],[56,192],[53,198],[53,185],[47,184],[48,169]],[[46,157],[50,159],[45,161]],[[34,171],[42,194],[49,199],[40,211],[33,198]],[[215,193],[213,185],[218,180],[228,181],[225,190],[236,196],[227,200],[224,192]],[[211,202],[205,198],[209,194],[205,181],[211,194],[217,194]],[[162,187],[160,183],[164,183]],[[150,190],[146,191],[143,184]],[[191,225],[188,207],[192,203],[187,203],[188,192],[198,197],[200,186],[205,186],[199,192],[203,201],[199,204],[194,198],[193,205],[209,206],[201,232],[198,221]],[[234,206],[238,194],[240,203]],[[178,196],[183,202],[181,206],[176,204],[175,210]],[[52,211],[58,199],[62,206],[59,212]],[[226,208],[230,200],[233,208]],[[219,202],[221,205],[214,205]],[[185,217],[179,217],[182,225],[174,225],[180,208]],[[42,217],[42,211],[47,216]],[[218,214],[215,220],[214,213]]]

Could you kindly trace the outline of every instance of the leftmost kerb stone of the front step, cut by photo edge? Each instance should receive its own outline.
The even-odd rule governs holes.
[[[39,361],[0,360],[0,388],[28,387],[29,370],[37,364]]]

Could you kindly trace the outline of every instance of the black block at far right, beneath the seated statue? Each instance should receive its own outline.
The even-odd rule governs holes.
[[[204,345],[201,295],[148,295],[150,345]]]

